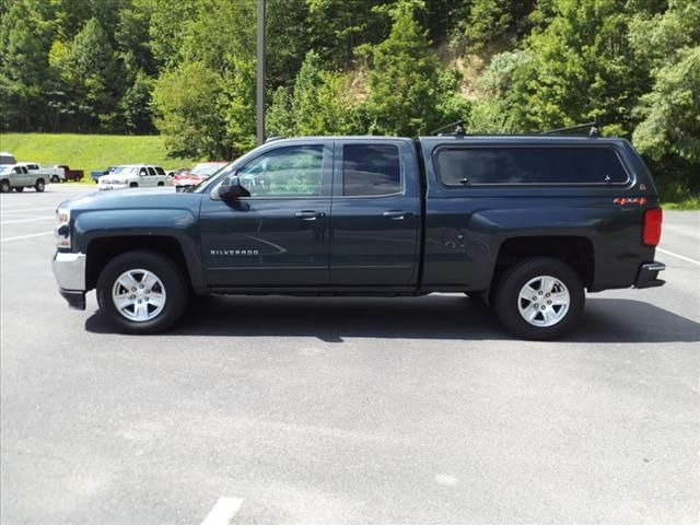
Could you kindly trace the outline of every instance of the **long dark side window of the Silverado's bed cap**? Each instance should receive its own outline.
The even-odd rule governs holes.
[[[605,184],[628,179],[609,148],[464,148],[438,152],[438,176],[464,184]]]

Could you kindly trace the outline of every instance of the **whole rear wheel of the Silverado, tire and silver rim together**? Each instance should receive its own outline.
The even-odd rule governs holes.
[[[511,266],[499,281],[493,306],[501,323],[525,339],[560,337],[576,323],[585,292],[579,275],[549,257]]]

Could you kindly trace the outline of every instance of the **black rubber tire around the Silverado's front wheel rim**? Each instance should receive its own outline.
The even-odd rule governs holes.
[[[119,277],[136,269],[152,272],[163,283],[165,300],[162,311],[148,320],[131,320],[119,313],[112,291]],[[97,279],[97,303],[102,312],[120,330],[127,334],[158,334],[172,327],[180,318],[189,302],[189,288],[180,268],[158,252],[133,250],[115,257]]]

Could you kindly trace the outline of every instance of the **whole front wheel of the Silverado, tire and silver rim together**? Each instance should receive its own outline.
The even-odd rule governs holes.
[[[128,334],[166,330],[187,306],[189,290],[182,273],[175,262],[158,252],[121,254],[100,273],[100,308]]]

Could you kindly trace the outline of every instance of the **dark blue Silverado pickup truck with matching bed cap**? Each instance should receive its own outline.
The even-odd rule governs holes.
[[[95,289],[131,334],[172,327],[192,294],[459,292],[552,339],[586,291],[664,283],[656,187],[623,139],[281,139],[188,191],[129,194],[62,202],[52,267],[69,306]]]

